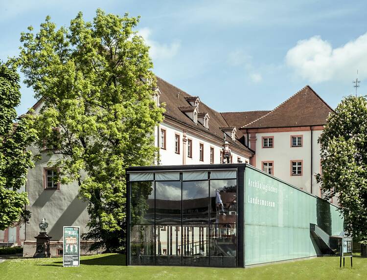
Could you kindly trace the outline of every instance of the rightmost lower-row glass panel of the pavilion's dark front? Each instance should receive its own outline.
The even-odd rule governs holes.
[[[236,225],[214,224],[209,228],[210,266],[235,267],[237,251]]]

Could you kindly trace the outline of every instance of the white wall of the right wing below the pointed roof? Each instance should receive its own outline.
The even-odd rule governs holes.
[[[312,193],[320,194],[315,174],[320,172],[321,130],[312,131]],[[291,135],[303,135],[302,147],[291,147]],[[274,136],[274,148],[262,148],[262,137]],[[311,192],[311,131],[256,133],[256,168],[262,169],[262,161],[274,161],[274,176]],[[291,175],[291,160],[303,160],[302,175]]]

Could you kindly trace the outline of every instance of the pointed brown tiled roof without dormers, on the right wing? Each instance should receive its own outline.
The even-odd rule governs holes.
[[[333,109],[311,88],[305,86],[274,110],[242,126],[250,128],[281,128],[320,126]]]

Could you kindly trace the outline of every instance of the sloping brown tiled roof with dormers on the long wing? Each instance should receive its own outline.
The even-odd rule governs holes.
[[[161,90],[161,102],[164,102],[166,104],[164,112],[164,115],[167,117],[171,117],[175,120],[178,120],[185,125],[192,127],[194,129],[200,129],[204,133],[209,133],[213,136],[218,137],[218,140],[223,139],[223,131],[220,129],[220,127],[228,127],[228,124],[226,120],[222,117],[222,115],[213,110],[212,108],[206,106],[205,103],[201,102],[199,105],[199,113],[205,112],[208,113],[210,116],[209,121],[209,129],[206,129],[203,125],[198,123],[197,125],[182,111],[182,109],[185,110],[185,108],[190,107],[188,100],[192,97],[191,95],[184,92],[182,89],[171,85],[170,83],[164,81],[160,77],[157,77],[157,86]],[[196,98],[196,97],[195,97]],[[194,107],[194,106],[193,106]],[[241,134],[239,134],[241,135]],[[236,136],[238,136],[236,134]],[[239,140],[239,137],[237,137],[237,140]],[[227,141],[232,146],[237,146],[238,148],[248,150],[252,153],[250,149],[248,149],[245,145],[240,143],[240,141],[231,141],[229,137],[227,138]]]

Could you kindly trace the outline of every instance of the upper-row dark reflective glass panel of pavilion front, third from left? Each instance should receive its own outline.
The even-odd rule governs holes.
[[[207,224],[208,194],[208,181],[183,182],[183,223]]]

